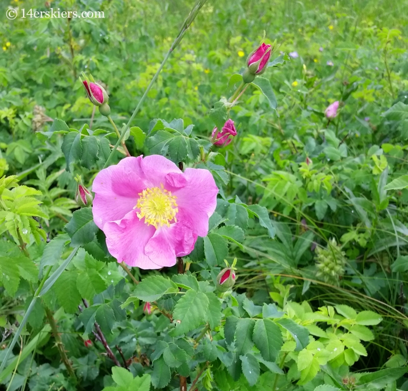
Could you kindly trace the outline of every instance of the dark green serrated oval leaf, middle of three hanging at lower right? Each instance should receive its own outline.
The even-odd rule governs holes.
[[[266,361],[274,362],[283,345],[282,332],[270,319],[259,319],[253,328],[253,342]]]

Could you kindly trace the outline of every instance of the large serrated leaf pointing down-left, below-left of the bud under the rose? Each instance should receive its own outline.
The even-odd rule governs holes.
[[[204,323],[208,306],[209,299],[205,293],[187,291],[174,306],[173,319],[176,326],[170,331],[170,335],[181,336]]]

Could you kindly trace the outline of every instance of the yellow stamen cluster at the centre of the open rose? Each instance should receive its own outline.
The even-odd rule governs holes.
[[[166,225],[170,227],[170,221],[176,220],[176,213],[179,211],[175,202],[175,195],[171,195],[171,191],[161,187],[149,187],[139,193],[140,198],[137,201],[135,208],[139,219],[144,217],[144,221],[148,225],[158,228]]]

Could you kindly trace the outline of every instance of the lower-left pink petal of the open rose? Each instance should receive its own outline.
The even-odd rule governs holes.
[[[139,220],[132,210],[119,221],[109,221],[104,226],[106,245],[109,253],[118,262],[141,269],[160,269],[162,266],[152,261],[144,251],[148,241],[154,236],[156,228]]]

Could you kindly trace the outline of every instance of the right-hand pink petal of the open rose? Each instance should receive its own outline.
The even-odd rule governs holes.
[[[172,191],[179,207],[177,221],[188,221],[195,235],[206,236],[208,220],[217,206],[218,187],[208,170],[186,169],[184,176],[188,184]]]

